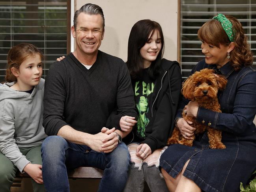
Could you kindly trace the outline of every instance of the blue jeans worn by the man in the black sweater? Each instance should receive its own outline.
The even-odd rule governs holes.
[[[93,151],[87,145],[49,136],[41,148],[42,172],[47,192],[69,192],[67,169],[80,166],[104,170],[98,192],[121,192],[128,177],[130,155],[122,142],[111,153]]]

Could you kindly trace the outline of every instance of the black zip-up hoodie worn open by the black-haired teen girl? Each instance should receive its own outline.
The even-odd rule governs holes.
[[[145,140],[151,151],[166,145],[173,127],[181,94],[181,69],[176,61],[161,60],[160,74],[155,81],[149,103],[150,121],[145,129]],[[136,130],[133,130],[136,131]]]

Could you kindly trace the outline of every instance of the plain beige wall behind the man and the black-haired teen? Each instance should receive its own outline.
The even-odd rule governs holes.
[[[178,0],[75,0],[75,10],[88,2],[99,5],[104,12],[105,36],[99,48],[103,52],[126,61],[132,26],[141,19],[151,19],[163,29],[164,58],[177,60]]]

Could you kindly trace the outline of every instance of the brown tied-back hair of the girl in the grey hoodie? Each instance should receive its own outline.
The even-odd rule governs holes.
[[[7,55],[7,66],[6,66],[6,81],[13,82],[17,81],[16,76],[11,72],[11,68],[15,67],[19,69],[20,65],[26,58],[34,54],[39,54],[43,58],[43,54],[39,48],[35,47],[30,43],[21,43],[12,47]]]

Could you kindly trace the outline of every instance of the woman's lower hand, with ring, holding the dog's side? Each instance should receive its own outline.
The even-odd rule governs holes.
[[[177,122],[177,127],[179,128],[179,131],[186,139],[193,139],[192,136],[194,135],[194,131],[196,128],[191,127],[189,124],[192,124],[191,121],[186,121],[183,118],[180,118]]]

